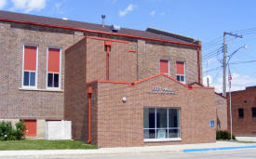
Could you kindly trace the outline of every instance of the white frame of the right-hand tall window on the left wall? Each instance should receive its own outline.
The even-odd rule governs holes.
[[[48,73],[51,73],[51,72],[48,72],[48,50],[49,50],[49,48],[60,49],[60,72],[59,72],[59,86],[58,87],[54,87],[54,73],[53,73],[53,86],[52,87],[48,86]],[[61,54],[62,54],[61,47],[47,46],[47,89],[55,89],[55,90],[56,89],[58,89],[58,90],[61,89]]]

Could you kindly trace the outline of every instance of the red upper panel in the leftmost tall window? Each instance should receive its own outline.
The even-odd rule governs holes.
[[[36,46],[24,46],[24,70],[36,71]]]

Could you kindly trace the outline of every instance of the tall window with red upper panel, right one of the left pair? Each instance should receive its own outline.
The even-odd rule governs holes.
[[[60,88],[61,49],[48,48],[47,51],[47,88]]]

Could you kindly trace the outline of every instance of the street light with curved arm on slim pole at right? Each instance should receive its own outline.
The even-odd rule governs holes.
[[[227,60],[227,66],[228,66],[228,80],[229,80],[229,116],[230,116],[230,140],[233,140],[233,132],[232,132],[232,109],[231,109],[231,92],[230,92],[230,88],[231,88],[231,73],[230,73],[230,68],[229,68],[229,60],[231,60],[231,58],[236,54],[236,52],[241,49],[241,48],[244,48],[244,49],[247,49],[247,45],[245,44],[244,46],[240,46],[239,48],[237,48],[232,54],[230,54],[228,57],[228,60]]]

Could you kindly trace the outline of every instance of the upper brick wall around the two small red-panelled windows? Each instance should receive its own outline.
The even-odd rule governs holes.
[[[185,61],[186,84],[198,82],[197,51],[195,47],[142,40],[138,41],[139,79],[158,74],[160,59],[170,60],[170,76],[174,78],[176,78],[176,61]],[[200,69],[201,72],[202,69]]]

